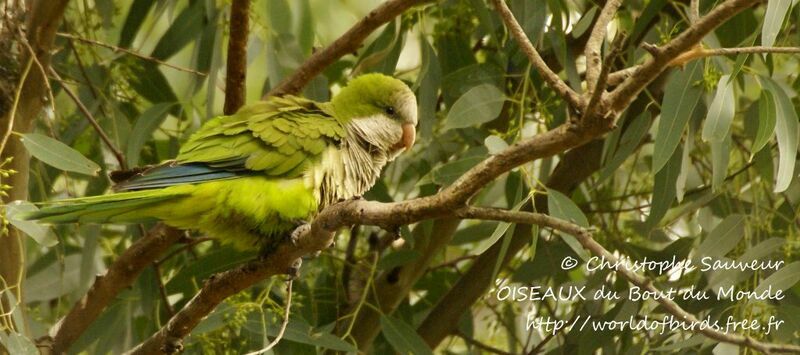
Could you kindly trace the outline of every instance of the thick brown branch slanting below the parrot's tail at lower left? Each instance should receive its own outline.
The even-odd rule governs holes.
[[[130,287],[144,268],[182,236],[181,231],[159,224],[126,249],[105,275],[96,277],[86,295],[50,330],[49,333],[54,334],[53,353],[66,353],[117,294]]]

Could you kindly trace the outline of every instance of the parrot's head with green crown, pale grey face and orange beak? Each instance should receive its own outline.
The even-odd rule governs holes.
[[[350,80],[331,103],[343,125],[391,157],[414,144],[417,98],[398,79],[361,75]]]

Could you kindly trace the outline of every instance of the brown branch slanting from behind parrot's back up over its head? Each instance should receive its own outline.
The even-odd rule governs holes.
[[[284,79],[264,97],[299,93],[306,84],[329,65],[342,56],[355,52],[364,39],[378,27],[391,21],[412,6],[431,1],[434,0],[389,0],[381,4],[328,47],[312,54],[294,74]]]

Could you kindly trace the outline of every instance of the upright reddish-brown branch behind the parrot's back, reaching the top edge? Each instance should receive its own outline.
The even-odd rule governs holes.
[[[250,0],[233,0],[231,4],[228,64],[225,76],[225,107],[232,115],[244,105],[247,76],[247,36],[250,32]]]

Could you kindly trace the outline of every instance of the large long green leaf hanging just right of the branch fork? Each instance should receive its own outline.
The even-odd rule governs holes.
[[[661,171],[678,147],[683,129],[700,102],[702,89],[696,84],[703,79],[702,62],[696,60],[689,63],[667,84],[653,145],[653,174]]]

